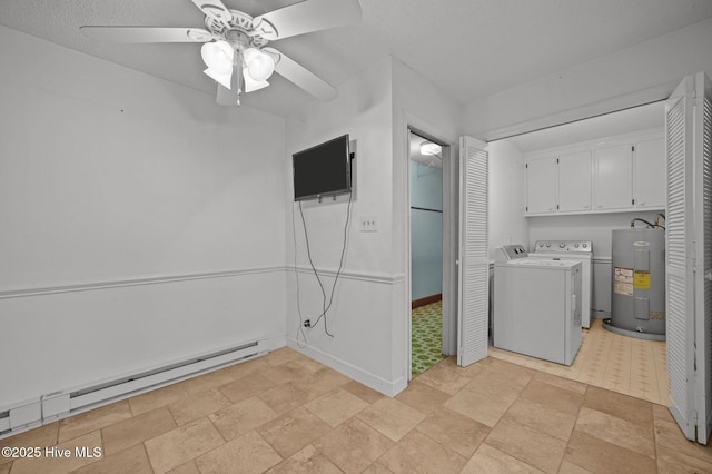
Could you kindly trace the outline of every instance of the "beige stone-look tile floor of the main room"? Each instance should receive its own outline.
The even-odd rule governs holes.
[[[487,357],[383,396],[290,349],[117,402],[0,446],[101,447],[18,473],[710,473],[661,405]]]

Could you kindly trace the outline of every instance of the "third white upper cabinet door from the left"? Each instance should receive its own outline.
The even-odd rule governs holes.
[[[594,152],[594,209],[625,209],[633,205],[632,145]]]

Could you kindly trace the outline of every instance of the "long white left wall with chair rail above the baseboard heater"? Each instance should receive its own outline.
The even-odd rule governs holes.
[[[0,62],[0,407],[284,344],[284,119],[4,27]]]

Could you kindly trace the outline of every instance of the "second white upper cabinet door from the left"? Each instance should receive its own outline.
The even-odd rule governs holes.
[[[558,210],[591,210],[591,151],[558,158]]]

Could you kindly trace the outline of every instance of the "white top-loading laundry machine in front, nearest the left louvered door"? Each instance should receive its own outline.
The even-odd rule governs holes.
[[[522,245],[497,247],[494,347],[571,365],[583,338],[581,261],[530,257]]]

